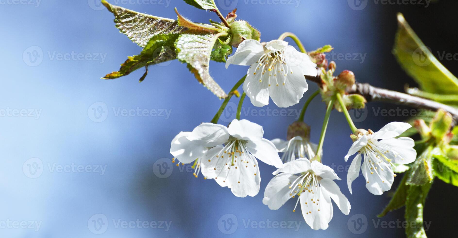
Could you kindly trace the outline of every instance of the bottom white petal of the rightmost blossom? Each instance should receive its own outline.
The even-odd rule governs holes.
[[[371,194],[381,195],[383,192],[391,189],[394,181],[393,169],[385,162],[372,165],[368,162],[368,159],[373,160],[373,158],[364,158],[361,168],[363,176],[366,179],[366,188]]]

